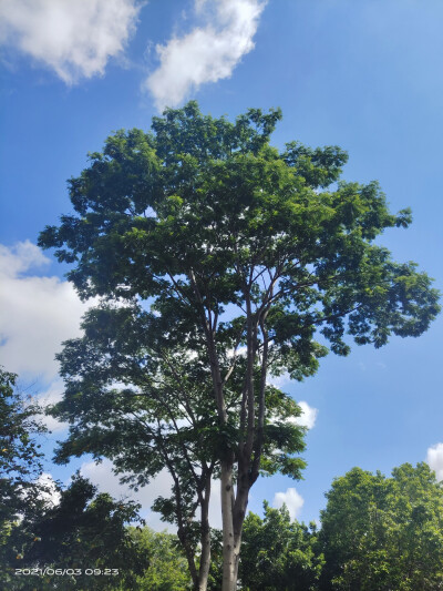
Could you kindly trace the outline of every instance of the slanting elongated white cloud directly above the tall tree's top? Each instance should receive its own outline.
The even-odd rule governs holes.
[[[254,35],[266,0],[196,0],[204,27],[156,45],[158,69],[144,83],[158,110],[178,105],[206,82],[229,78],[243,55],[254,49]]]

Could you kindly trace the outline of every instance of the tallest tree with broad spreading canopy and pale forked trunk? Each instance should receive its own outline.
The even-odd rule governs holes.
[[[81,297],[151,303],[169,346],[204,355],[219,434],[223,591],[236,587],[249,490],[274,428],[269,373],[313,375],[327,353],[317,333],[346,355],[346,333],[380,347],[392,334],[419,336],[439,312],[431,279],[374,244],[408,226],[410,212],[391,214],[374,182],[338,182],[347,154],[337,146],[271,147],[279,119],[250,109],[231,123],[190,102],[154,118],[152,133],[117,132],[70,181],[75,213],[39,241],[74,264]]]

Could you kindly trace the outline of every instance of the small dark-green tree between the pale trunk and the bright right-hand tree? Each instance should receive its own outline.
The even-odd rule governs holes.
[[[317,556],[317,529],[290,520],[289,511],[271,509],[265,517],[249,513],[245,519],[239,578],[250,591],[312,591],[323,563]]]

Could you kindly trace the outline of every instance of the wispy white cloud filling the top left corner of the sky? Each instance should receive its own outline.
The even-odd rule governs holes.
[[[134,31],[140,8],[136,0],[1,0],[0,43],[71,84],[104,73]]]

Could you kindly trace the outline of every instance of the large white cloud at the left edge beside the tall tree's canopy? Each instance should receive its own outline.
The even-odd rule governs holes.
[[[48,263],[29,241],[11,248],[0,245],[1,363],[23,377],[51,381],[58,373],[54,355],[63,340],[80,335],[87,305],[68,282],[23,275]]]

